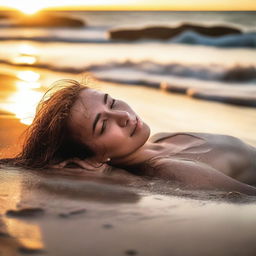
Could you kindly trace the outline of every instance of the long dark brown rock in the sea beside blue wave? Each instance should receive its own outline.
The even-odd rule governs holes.
[[[193,24],[182,24],[178,27],[147,27],[142,29],[118,29],[110,30],[109,35],[114,40],[139,40],[139,39],[171,39],[184,31],[194,31],[201,35],[218,37],[230,34],[241,34],[242,31],[228,26],[200,26]]]

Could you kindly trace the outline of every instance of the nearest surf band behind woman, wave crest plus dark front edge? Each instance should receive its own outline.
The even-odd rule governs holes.
[[[7,60],[0,60],[0,63],[17,66]],[[217,65],[189,66],[175,63],[161,65],[150,61],[111,62],[79,68],[46,63],[26,66],[79,73],[105,82],[150,87],[199,99],[256,107],[256,67],[253,66],[225,68]]]

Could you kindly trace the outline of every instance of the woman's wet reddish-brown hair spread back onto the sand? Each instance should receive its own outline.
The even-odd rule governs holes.
[[[71,79],[58,80],[37,106],[32,124],[25,131],[21,152],[0,163],[27,168],[46,168],[65,159],[85,159],[94,153],[77,142],[69,129],[70,111],[80,92],[89,88]]]

